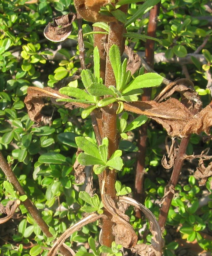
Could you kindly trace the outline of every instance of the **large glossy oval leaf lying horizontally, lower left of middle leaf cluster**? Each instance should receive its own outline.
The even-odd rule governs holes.
[[[44,153],[38,158],[41,164],[67,164],[67,158],[56,152]]]

